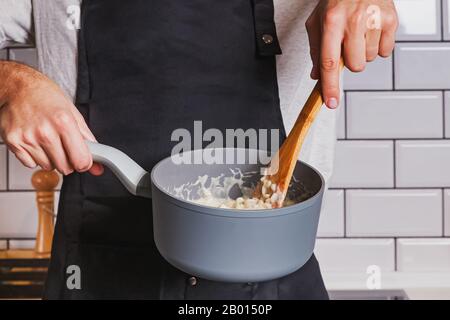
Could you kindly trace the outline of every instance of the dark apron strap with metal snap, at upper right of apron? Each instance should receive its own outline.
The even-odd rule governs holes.
[[[252,0],[256,47],[260,56],[281,54],[274,20],[273,0]]]

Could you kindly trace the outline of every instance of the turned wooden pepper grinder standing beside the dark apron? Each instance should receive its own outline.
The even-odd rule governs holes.
[[[46,254],[52,249],[55,188],[59,183],[59,176],[55,171],[38,170],[33,173],[31,183],[36,189],[39,215],[34,251]]]

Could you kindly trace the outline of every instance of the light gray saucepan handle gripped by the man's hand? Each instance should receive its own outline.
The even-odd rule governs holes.
[[[122,151],[86,141],[95,162],[107,166],[132,194],[151,198],[150,174]]]

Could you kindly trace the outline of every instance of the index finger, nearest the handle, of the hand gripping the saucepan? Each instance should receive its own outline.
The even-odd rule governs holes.
[[[92,155],[81,135],[77,123],[70,121],[66,127],[66,130],[62,131],[60,136],[67,157],[75,171],[88,171],[92,166]]]

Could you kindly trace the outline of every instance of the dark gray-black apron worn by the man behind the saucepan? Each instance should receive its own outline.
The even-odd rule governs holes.
[[[151,170],[177,128],[280,129],[272,0],[84,0],[77,107],[99,142]],[[264,283],[196,279],[153,242],[151,200],[105,169],[64,178],[45,297],[324,299],[314,257]],[[242,257],[245,259],[245,257]],[[79,266],[81,289],[66,273]]]

